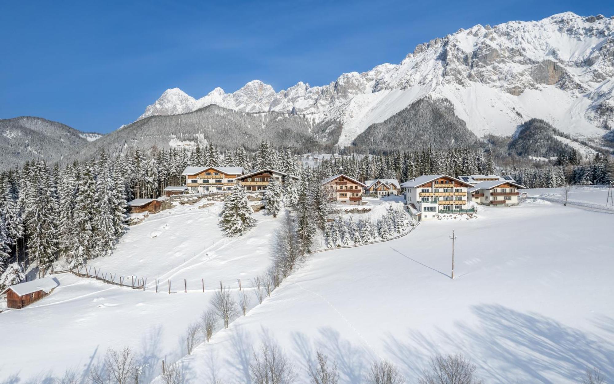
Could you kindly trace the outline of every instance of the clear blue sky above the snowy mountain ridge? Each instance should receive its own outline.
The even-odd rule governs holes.
[[[200,98],[254,79],[323,85],[459,28],[567,10],[610,17],[614,1],[4,1],[0,118],[104,133],[167,88]]]

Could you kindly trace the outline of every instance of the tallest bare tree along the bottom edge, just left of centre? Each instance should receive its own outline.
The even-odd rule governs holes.
[[[260,350],[254,350],[249,375],[254,384],[290,384],[297,376],[292,363],[270,339],[263,340]]]

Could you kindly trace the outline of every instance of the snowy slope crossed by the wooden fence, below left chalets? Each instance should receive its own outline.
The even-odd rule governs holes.
[[[150,215],[130,227],[113,255],[89,263],[92,274],[96,267],[117,278],[147,277],[146,291],[59,274],[60,286],[49,297],[0,313],[0,329],[10,329],[0,337],[0,383],[8,378],[39,383],[66,369],[82,372],[108,347],[129,345],[141,355],[151,367],[141,380],[158,374],[161,359],[184,355],[186,328],[208,306],[219,280],[238,288],[241,278],[247,286],[249,278],[268,268],[268,248],[279,222],[261,211],[254,214],[258,224],[246,236],[225,238],[217,226],[221,203],[199,208],[208,203]],[[155,293],[158,275],[160,292]],[[176,293],[168,294],[168,279]]]

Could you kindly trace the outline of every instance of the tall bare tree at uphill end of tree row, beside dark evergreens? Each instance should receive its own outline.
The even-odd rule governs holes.
[[[273,263],[283,277],[292,273],[294,267],[305,259],[297,235],[297,226],[292,217],[286,215],[273,240]]]

